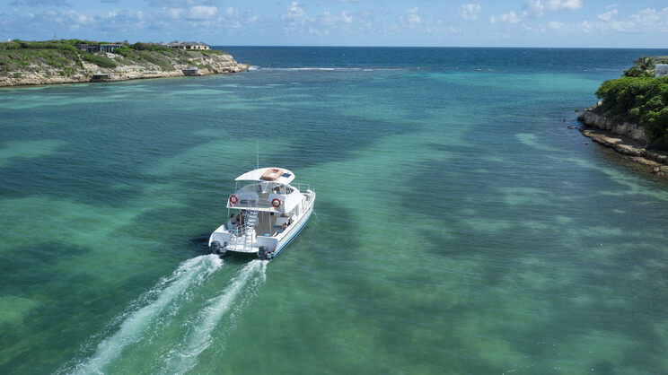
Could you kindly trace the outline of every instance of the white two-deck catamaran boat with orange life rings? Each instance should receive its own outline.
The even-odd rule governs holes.
[[[315,203],[311,186],[293,186],[293,179],[293,172],[280,168],[251,170],[236,178],[234,194],[227,199],[227,223],[209,238],[211,251],[276,257],[302,231]],[[250,183],[241,185],[244,182]]]

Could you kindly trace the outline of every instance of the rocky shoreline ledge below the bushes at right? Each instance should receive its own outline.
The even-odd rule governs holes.
[[[668,156],[666,153],[647,150],[647,137],[643,126],[631,123],[617,124],[610,118],[595,113],[599,102],[585,109],[577,119],[585,127],[580,132],[597,144],[610,147],[615,152],[628,156],[632,161],[650,167],[651,172],[668,176]]]

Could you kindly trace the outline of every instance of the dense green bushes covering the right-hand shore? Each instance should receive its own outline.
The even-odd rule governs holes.
[[[666,57],[640,57],[621,78],[602,83],[596,96],[602,99],[598,112],[613,121],[645,127],[647,139],[656,148],[668,149],[668,76],[654,78],[656,63]],[[665,64],[665,63],[664,63]]]

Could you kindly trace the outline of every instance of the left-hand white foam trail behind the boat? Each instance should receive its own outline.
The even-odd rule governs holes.
[[[215,255],[194,257],[179,266],[174,273],[154,286],[145,295],[157,294],[154,301],[149,302],[139,310],[124,312],[114,322],[122,320],[119,330],[98,344],[95,353],[85,362],[75,366],[75,373],[101,373],[105,365],[119,357],[128,344],[139,341],[145,331],[151,327],[155,318],[181,294],[188,292],[193,286],[203,283],[209,275],[223,266],[223,261]],[[140,298],[133,305],[140,304],[145,298]]]

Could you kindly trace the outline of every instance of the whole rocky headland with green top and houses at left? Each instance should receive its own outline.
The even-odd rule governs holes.
[[[0,43],[0,86],[113,82],[247,70],[206,43],[98,43],[80,39]]]

